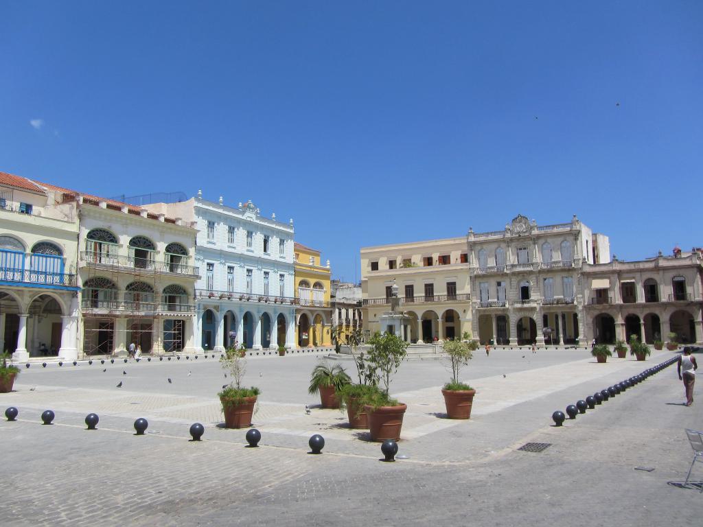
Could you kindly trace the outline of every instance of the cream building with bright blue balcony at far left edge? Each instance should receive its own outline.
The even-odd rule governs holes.
[[[0,172],[0,351],[77,358],[77,233],[75,202]]]

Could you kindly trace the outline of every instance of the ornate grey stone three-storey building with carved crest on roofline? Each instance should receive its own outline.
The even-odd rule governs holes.
[[[610,260],[607,237],[574,218],[467,234],[474,334],[482,343],[585,343],[581,266]]]

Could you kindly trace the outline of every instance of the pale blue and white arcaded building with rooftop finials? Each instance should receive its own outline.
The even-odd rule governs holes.
[[[198,197],[145,205],[198,228],[197,345],[221,351],[295,345],[293,226],[266,218],[252,202],[228,207]]]

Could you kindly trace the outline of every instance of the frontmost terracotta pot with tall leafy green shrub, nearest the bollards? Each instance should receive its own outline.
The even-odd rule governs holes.
[[[389,395],[391,377],[406,357],[408,343],[395,334],[376,332],[369,339],[368,368],[383,383],[383,389],[370,391],[362,398],[368,413],[368,429],[371,441],[400,439],[403,417],[408,406]]]

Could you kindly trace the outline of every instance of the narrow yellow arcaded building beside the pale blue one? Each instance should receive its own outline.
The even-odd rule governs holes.
[[[331,346],[330,261],[320,252],[295,244],[295,341],[299,348]]]

